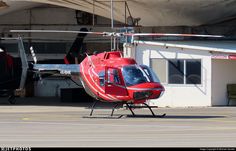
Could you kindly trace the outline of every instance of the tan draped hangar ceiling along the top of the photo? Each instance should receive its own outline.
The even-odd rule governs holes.
[[[3,0],[0,15],[41,4],[58,5],[110,18],[110,0]],[[236,16],[235,0],[113,0],[114,19],[125,22],[127,8],[142,26],[200,26]]]

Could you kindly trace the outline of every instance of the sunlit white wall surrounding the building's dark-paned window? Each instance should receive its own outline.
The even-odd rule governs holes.
[[[163,83],[166,90],[164,95],[159,99],[151,100],[150,105],[160,107],[211,106],[211,55],[208,52],[142,44],[138,44],[134,50],[136,50],[136,61],[148,66],[150,66],[150,58],[201,59],[202,61],[202,84]]]

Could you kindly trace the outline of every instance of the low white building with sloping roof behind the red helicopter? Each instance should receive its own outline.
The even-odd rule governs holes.
[[[233,41],[135,41],[124,44],[124,55],[150,66],[165,87],[151,100],[160,107],[228,105],[228,83],[236,83]]]

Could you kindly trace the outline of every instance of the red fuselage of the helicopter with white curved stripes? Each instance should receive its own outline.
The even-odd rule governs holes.
[[[123,58],[120,51],[87,56],[80,64],[80,80],[89,95],[105,102],[144,103],[164,92],[149,67]]]

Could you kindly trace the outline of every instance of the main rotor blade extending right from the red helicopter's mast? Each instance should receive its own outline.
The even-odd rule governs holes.
[[[167,37],[209,37],[222,38],[222,35],[170,34],[170,33],[124,33],[125,36],[167,36]]]

